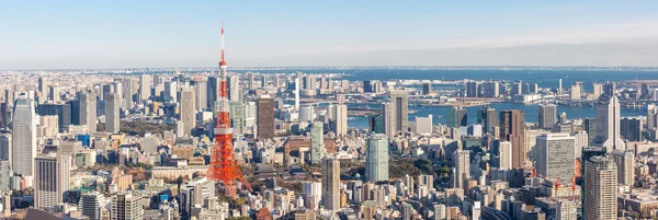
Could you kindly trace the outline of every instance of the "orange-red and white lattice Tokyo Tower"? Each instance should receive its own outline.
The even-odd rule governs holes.
[[[224,22],[222,22],[222,61],[219,62],[219,96],[215,103],[217,124],[215,125],[215,147],[211,155],[211,166],[207,176],[215,182],[224,182],[226,195],[236,197],[238,188],[236,180],[240,181],[251,192],[253,189],[245,180],[242,171],[238,167],[232,148],[232,129],[230,128],[230,113],[228,105],[228,90],[226,88],[226,61],[224,60]]]

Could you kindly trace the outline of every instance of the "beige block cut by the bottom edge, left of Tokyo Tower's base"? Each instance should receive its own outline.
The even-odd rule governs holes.
[[[144,218],[141,197],[133,194],[118,194],[112,198],[112,220]]]

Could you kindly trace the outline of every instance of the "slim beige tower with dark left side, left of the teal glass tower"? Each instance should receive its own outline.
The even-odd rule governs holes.
[[[340,161],[322,159],[322,204],[327,210],[340,209]]]

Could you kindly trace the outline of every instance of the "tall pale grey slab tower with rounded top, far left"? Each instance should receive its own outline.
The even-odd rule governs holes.
[[[36,115],[34,102],[20,97],[14,103],[11,166],[14,173],[32,176],[36,157]]]

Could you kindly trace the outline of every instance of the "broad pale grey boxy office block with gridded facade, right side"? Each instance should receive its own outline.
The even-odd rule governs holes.
[[[569,134],[544,134],[536,138],[537,174],[549,180],[569,181],[575,176],[575,139]]]

